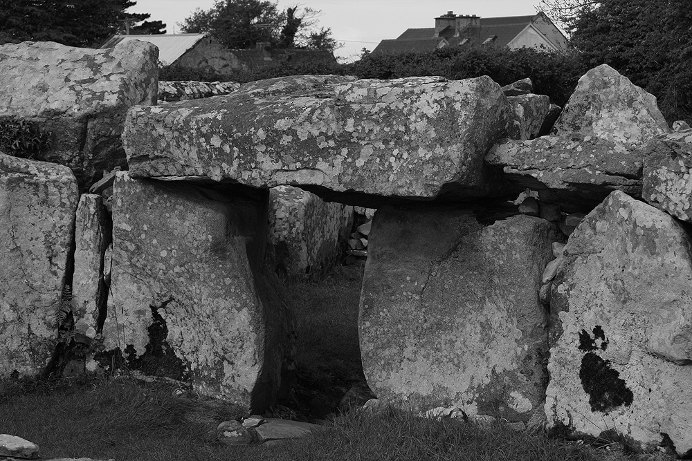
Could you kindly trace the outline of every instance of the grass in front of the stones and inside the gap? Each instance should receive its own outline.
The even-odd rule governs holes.
[[[298,311],[297,388],[298,400],[303,404],[322,396],[333,405],[349,386],[363,379],[356,327],[361,276],[358,268],[338,267],[320,283],[289,283]],[[246,415],[232,405],[176,391],[172,384],[147,384],[131,377],[107,381],[8,381],[0,383],[0,433],[19,435],[39,444],[44,459],[637,459],[627,458],[618,449],[595,450],[588,444],[549,438],[541,431],[514,432],[502,424],[482,428],[457,420],[423,420],[391,410],[336,417],[333,426],[304,440],[224,446],[215,440],[217,424]]]

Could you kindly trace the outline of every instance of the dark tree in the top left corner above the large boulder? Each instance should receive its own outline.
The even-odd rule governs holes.
[[[0,0],[0,44],[25,40],[100,46],[113,34],[165,33],[147,13],[128,13],[131,0]],[[141,24],[138,24],[141,23]]]

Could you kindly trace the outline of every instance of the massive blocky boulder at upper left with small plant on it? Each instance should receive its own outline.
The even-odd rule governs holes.
[[[42,160],[70,167],[84,191],[104,169],[127,164],[125,114],[156,104],[157,58],[156,46],[134,40],[104,50],[52,41],[0,46],[0,116],[36,120],[53,133]]]

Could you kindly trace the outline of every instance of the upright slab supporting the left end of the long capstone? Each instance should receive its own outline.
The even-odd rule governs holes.
[[[275,404],[293,321],[263,265],[267,206],[268,191],[118,173],[106,350],[248,412]]]

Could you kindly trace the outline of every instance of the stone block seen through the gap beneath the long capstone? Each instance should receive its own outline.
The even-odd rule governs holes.
[[[327,203],[291,186],[269,191],[269,243],[275,267],[289,276],[324,274],[343,253],[353,225],[353,207]]]

